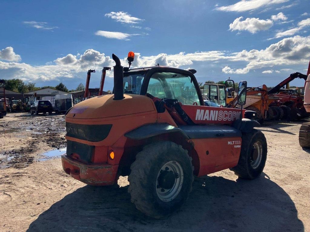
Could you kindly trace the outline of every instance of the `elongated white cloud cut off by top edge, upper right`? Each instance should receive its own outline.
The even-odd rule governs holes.
[[[263,6],[283,3],[287,1],[289,0],[241,0],[233,5],[217,7],[216,10],[236,12],[251,11]]]

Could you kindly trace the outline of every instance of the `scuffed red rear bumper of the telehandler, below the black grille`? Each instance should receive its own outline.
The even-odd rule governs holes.
[[[61,156],[64,171],[74,179],[88,185],[113,185],[117,174],[118,165],[85,164],[68,157]]]

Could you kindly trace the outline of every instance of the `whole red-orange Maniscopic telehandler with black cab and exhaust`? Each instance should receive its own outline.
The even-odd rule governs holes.
[[[179,208],[194,176],[230,168],[241,178],[263,171],[267,143],[255,112],[204,106],[193,73],[171,67],[122,67],[115,61],[114,94],[93,97],[66,113],[64,171],[89,185],[127,176],[136,208],[162,218]],[[129,64],[133,61],[129,53]],[[246,103],[246,81],[239,84]]]

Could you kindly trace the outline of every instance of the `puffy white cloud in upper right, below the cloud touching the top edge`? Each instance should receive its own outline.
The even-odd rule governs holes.
[[[241,19],[243,19],[243,17],[235,19],[229,24],[229,29],[231,31],[249,31],[254,34],[258,31],[268,30],[273,25],[273,22],[270,19],[263,20],[259,18],[246,18],[243,21]]]

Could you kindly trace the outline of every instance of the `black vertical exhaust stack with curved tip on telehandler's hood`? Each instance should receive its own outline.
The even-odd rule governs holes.
[[[121,65],[119,58],[113,53],[112,59],[115,61],[115,66],[113,66],[114,74],[114,98],[113,100],[122,100],[124,98],[124,67]]]

